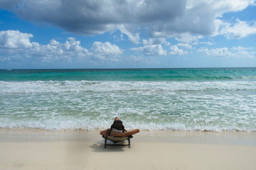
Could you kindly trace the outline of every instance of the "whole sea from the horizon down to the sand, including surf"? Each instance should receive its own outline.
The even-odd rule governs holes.
[[[0,128],[256,131],[256,68],[0,70]]]

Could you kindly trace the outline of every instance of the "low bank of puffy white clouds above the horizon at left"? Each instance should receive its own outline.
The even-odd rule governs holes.
[[[18,60],[33,58],[43,62],[56,60],[117,60],[122,50],[110,42],[94,42],[92,49],[87,50],[79,40],[68,38],[65,42],[50,40],[47,45],[31,42],[32,34],[18,30],[0,31],[0,60]]]

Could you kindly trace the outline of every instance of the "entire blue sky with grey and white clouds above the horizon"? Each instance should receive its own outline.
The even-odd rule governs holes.
[[[0,0],[0,69],[256,67],[255,0]]]

